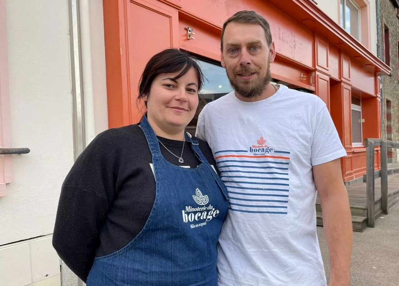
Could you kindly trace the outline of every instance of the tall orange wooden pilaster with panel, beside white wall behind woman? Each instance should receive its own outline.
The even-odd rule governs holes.
[[[158,1],[104,0],[103,11],[108,125],[113,128],[140,120],[138,81],[151,56],[178,46],[178,10]]]

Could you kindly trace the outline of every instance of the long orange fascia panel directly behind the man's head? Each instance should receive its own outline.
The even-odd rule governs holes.
[[[242,0],[173,0],[184,11],[195,14],[204,22],[223,26],[225,20],[240,10],[253,10],[270,23],[276,52],[296,60],[308,67],[314,67],[314,36],[308,29],[276,9],[268,1]],[[206,20],[205,20],[206,19]]]

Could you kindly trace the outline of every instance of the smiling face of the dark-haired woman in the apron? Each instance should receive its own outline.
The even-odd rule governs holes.
[[[198,77],[194,68],[180,74],[161,73],[152,82],[147,101],[147,117],[163,131],[180,131],[193,119],[198,106]]]

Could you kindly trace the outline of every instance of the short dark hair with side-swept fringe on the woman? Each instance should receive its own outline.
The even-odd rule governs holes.
[[[178,79],[185,75],[191,68],[194,68],[197,73],[199,92],[203,86],[205,77],[203,76],[198,63],[186,52],[182,52],[175,48],[170,48],[159,52],[148,61],[146,67],[144,68],[144,71],[140,77],[140,83],[138,85],[137,100],[142,100],[150,93],[152,82],[160,73],[176,73],[178,71],[182,71],[173,78]],[[147,102],[145,102],[145,105],[147,106]]]

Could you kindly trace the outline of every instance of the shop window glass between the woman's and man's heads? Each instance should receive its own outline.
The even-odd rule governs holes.
[[[194,134],[197,126],[198,115],[203,107],[227,93],[233,91],[230,81],[227,78],[225,69],[220,64],[215,64],[207,60],[197,59],[201,67],[203,75],[205,75],[205,83],[200,91],[199,103],[193,120],[188,124],[186,131]]]

